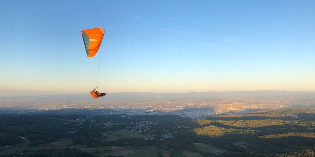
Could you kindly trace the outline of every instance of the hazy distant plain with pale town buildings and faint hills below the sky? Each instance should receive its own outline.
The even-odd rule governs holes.
[[[135,109],[145,114],[177,113],[200,109],[199,113],[248,113],[253,109],[315,109],[315,92],[307,91],[238,91],[201,93],[108,93],[95,99],[88,93],[42,96],[1,97],[0,108],[12,109]],[[124,113],[134,110],[124,111]],[[174,111],[174,112],[173,112]],[[180,114],[180,113],[177,113]],[[184,112],[182,113],[184,114]]]

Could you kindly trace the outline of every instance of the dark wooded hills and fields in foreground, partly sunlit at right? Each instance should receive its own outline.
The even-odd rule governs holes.
[[[219,115],[0,115],[0,156],[313,157],[309,109]],[[150,154],[151,153],[151,154]]]

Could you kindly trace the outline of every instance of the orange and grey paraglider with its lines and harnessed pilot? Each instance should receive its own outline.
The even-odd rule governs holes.
[[[92,28],[82,30],[81,33],[86,50],[86,55],[90,59],[91,63],[94,65],[90,69],[95,73],[93,74],[93,76],[95,77],[95,79],[93,80],[95,88],[93,89],[93,91],[90,92],[91,96],[94,98],[104,97],[106,93],[99,93],[97,91],[100,72],[100,53],[97,54],[97,52],[102,43],[105,30],[103,28]]]

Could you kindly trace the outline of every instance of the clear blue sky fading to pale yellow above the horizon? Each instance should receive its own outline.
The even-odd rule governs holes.
[[[0,96],[315,91],[315,1],[2,1]],[[11,92],[11,91],[14,91]]]

